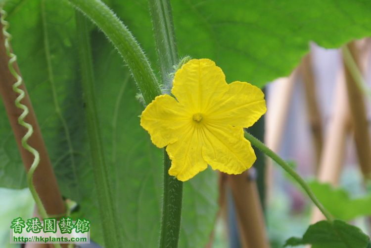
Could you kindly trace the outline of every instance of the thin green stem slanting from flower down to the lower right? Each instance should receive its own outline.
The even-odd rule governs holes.
[[[274,151],[269,149],[263,142],[256,139],[251,134],[245,132],[245,138],[251,142],[256,148],[264,152],[268,157],[272,158],[276,163],[283,168],[291,177],[293,177],[299,185],[304,189],[304,191],[308,194],[309,198],[312,202],[320,209],[320,211],[325,215],[326,219],[332,223],[333,217],[331,214],[325,209],[324,206],[320,203],[317,197],[314,195],[308,184],[301,178],[288,164],[286,161],[281,159]]]

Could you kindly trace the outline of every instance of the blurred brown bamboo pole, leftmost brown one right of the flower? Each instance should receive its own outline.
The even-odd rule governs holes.
[[[307,102],[309,125],[316,151],[316,167],[317,173],[319,167],[319,161],[321,157],[321,151],[323,147],[323,132],[322,132],[322,117],[321,112],[317,104],[317,93],[316,93],[316,82],[312,70],[312,58],[309,53],[302,60],[300,66],[301,74],[303,75],[305,99]]]

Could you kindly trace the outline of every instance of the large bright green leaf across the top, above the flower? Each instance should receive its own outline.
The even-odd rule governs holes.
[[[152,61],[147,0],[110,0]],[[289,72],[309,50],[309,41],[333,48],[371,35],[368,0],[173,0],[181,55],[210,58],[227,81],[263,86]]]

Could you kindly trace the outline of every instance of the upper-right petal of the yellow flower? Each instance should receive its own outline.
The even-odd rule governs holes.
[[[228,92],[207,110],[207,115],[212,122],[250,127],[266,111],[261,89],[246,82],[235,81],[229,84]]]

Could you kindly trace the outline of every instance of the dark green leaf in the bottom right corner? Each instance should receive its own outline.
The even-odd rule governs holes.
[[[326,220],[310,225],[303,238],[292,237],[284,247],[312,245],[312,248],[369,248],[370,238],[356,226],[341,220]]]

